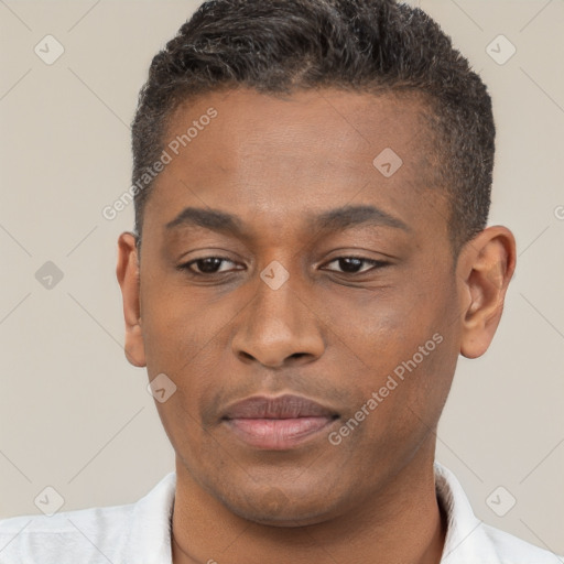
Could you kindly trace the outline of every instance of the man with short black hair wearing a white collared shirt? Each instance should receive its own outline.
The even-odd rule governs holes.
[[[554,563],[434,463],[516,264],[480,78],[392,0],[217,0],[151,65],[119,238],[126,355],[176,471],[7,520],[6,563]]]

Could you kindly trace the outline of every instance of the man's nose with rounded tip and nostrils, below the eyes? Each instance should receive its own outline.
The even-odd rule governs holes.
[[[273,290],[260,280],[232,339],[236,356],[271,368],[319,358],[325,349],[322,322],[307,302],[290,281]]]

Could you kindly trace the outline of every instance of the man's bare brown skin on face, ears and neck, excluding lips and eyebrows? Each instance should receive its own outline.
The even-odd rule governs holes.
[[[212,93],[175,111],[166,140],[209,107],[217,118],[155,181],[140,253],[132,234],[118,242],[127,358],[177,387],[156,403],[176,453],[174,562],[440,562],[435,431],[458,355],[479,357],[494,337],[513,236],[488,227],[453,258],[416,97]],[[372,165],[384,148],[403,160],[388,178]],[[166,229],[188,206],[237,216],[242,232]],[[314,224],[343,206],[375,206],[404,228]],[[199,276],[202,261],[177,269],[206,257],[226,261]],[[290,276],[278,290],[260,278],[274,260]],[[442,343],[330,444],[434,334]],[[285,451],[252,448],[221,422],[235,401],[282,393],[339,417]]]

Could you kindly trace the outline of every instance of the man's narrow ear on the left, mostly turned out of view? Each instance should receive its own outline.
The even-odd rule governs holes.
[[[144,367],[147,362],[141,328],[137,238],[133,234],[128,231],[122,232],[118,239],[118,265],[116,274],[123,299],[126,357],[133,366]]]

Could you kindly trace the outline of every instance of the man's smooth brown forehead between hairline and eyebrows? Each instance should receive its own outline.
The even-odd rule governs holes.
[[[170,223],[197,205],[273,225],[301,212],[377,204],[405,223],[421,220],[419,200],[429,204],[435,187],[426,111],[413,95],[336,89],[186,100],[170,117],[163,148],[171,161],[147,212]]]

